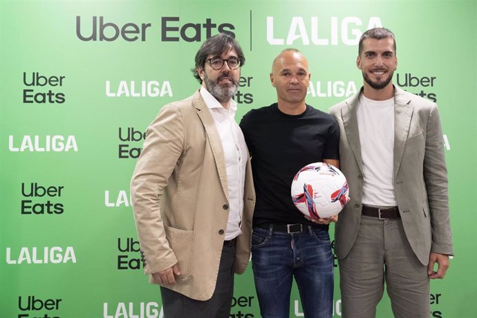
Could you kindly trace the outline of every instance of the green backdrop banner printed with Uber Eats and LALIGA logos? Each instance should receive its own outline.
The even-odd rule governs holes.
[[[284,48],[308,57],[308,104],[353,95],[358,39],[376,26],[397,38],[394,83],[442,117],[456,255],[431,282],[430,316],[477,317],[476,15],[476,1],[1,1],[0,317],[162,317],[129,180],[147,125],[198,88],[200,44],[241,43],[239,121],[276,101],[268,74]],[[296,287],[290,305],[303,317]],[[390,308],[384,295],[377,317]],[[260,317],[250,266],[230,317]]]

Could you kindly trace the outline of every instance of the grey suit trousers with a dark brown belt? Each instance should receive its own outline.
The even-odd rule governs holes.
[[[394,317],[430,315],[427,266],[411,249],[400,218],[362,216],[353,248],[339,260],[339,275],[344,318],[376,317],[384,283]]]

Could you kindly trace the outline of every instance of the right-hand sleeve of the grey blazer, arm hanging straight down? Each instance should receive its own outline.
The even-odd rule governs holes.
[[[429,113],[424,152],[424,182],[431,217],[431,252],[453,254],[444,140],[436,104]]]

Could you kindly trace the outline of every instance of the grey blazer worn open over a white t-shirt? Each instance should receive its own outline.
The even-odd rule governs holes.
[[[339,160],[351,198],[339,214],[335,229],[339,259],[353,247],[361,218],[363,162],[356,117],[360,94],[330,109],[339,124]],[[395,196],[409,244],[419,261],[427,265],[430,252],[453,254],[438,108],[395,87],[394,116]]]

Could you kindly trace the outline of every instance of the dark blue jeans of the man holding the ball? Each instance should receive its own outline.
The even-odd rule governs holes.
[[[307,226],[299,233],[254,227],[252,269],[261,316],[288,318],[292,279],[306,318],[333,315],[333,253],[327,230]]]

